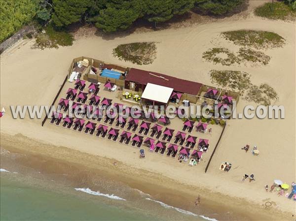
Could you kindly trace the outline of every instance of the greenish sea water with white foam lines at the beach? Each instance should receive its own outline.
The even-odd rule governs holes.
[[[21,174],[2,169],[0,173],[0,220],[50,221],[157,221],[210,220],[189,211],[149,198],[94,191],[87,187],[36,186],[36,179],[18,179]],[[28,182],[28,180],[30,182]],[[48,181],[47,181],[48,182]],[[48,186],[52,186],[48,183]],[[135,192],[129,192],[135,195]],[[133,200],[131,200],[133,199]],[[133,202],[134,201],[134,202]]]

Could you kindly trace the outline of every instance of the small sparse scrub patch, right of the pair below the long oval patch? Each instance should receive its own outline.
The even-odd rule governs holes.
[[[238,51],[240,60],[245,60],[253,63],[262,63],[266,65],[270,61],[270,57],[263,52],[254,51],[250,48],[240,48]]]

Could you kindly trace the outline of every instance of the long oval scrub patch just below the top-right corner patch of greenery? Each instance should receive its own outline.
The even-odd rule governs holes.
[[[236,45],[257,49],[282,47],[285,44],[285,39],[274,32],[239,30],[222,32],[222,36]]]

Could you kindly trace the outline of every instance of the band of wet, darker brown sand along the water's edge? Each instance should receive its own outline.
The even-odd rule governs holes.
[[[86,175],[86,177],[89,177],[90,174],[100,174],[100,176],[103,175],[114,182],[119,181],[120,183],[128,185],[132,189],[139,189],[142,192],[148,193],[154,200],[190,211],[194,214],[203,214],[206,217],[210,217],[211,219],[215,218],[219,221],[226,220],[228,211],[236,211],[236,213],[234,214],[232,212],[231,217],[228,214],[227,220],[269,220],[271,217],[273,219],[276,218],[277,220],[284,220],[289,217],[287,214],[284,214],[282,211],[275,210],[274,208],[271,213],[271,210],[263,209],[262,206],[252,204],[242,198],[233,198],[223,195],[222,193],[215,192],[212,189],[202,189],[197,186],[189,185],[184,186],[184,184],[175,182],[163,175],[135,169],[122,162],[118,162],[118,166],[115,167],[112,164],[114,160],[110,158],[101,158],[65,147],[43,144],[38,141],[32,141],[32,139],[22,135],[11,136],[1,134],[1,137],[1,153],[3,153],[3,149],[5,149],[11,153],[24,154],[26,156],[26,160],[19,158],[15,161],[15,163],[27,168],[39,169],[41,170],[41,173],[45,175],[50,175],[56,171],[55,173],[58,174],[75,174],[74,177],[76,177],[77,174],[76,172],[73,172],[73,168],[74,171],[79,171],[78,174],[80,175],[78,175],[78,177],[80,178],[83,176],[81,171],[87,171],[86,174],[88,175]],[[14,144],[25,143],[26,145],[13,147],[9,145],[11,139]],[[30,143],[28,141],[30,141]],[[72,157],[69,158],[67,156]],[[88,163],[85,163],[85,159],[87,159]],[[30,163],[28,163],[29,161]],[[5,159],[2,154],[1,162],[2,168],[3,163],[5,165]],[[9,169],[10,168],[7,170]],[[11,169],[11,171],[13,171],[13,169]],[[89,183],[87,181],[84,182],[86,185],[85,187],[90,188],[93,191],[97,191],[97,189],[94,189],[91,185],[91,181],[89,181]],[[70,179],[70,181],[66,181],[66,184],[67,183],[68,185],[70,184],[70,186],[73,186],[76,181]],[[168,187],[167,184],[172,183],[173,185]],[[181,187],[183,187],[183,190],[180,190]],[[172,192],[175,194],[172,194]],[[196,194],[192,194],[192,192],[196,192]],[[198,208],[196,208],[194,206],[194,201],[199,194],[201,196],[201,204]],[[244,210],[240,207],[242,204],[244,205]],[[255,208],[257,208],[257,210]],[[255,214],[260,214],[260,216],[257,215],[256,218],[252,217],[248,212],[250,209],[254,212],[256,210]],[[211,217],[211,214],[214,212],[219,214],[221,217]],[[292,214],[290,217],[292,217]]]

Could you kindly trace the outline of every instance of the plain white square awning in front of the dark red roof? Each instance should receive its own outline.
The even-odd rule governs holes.
[[[167,103],[173,91],[173,88],[148,83],[143,92],[142,98]]]

